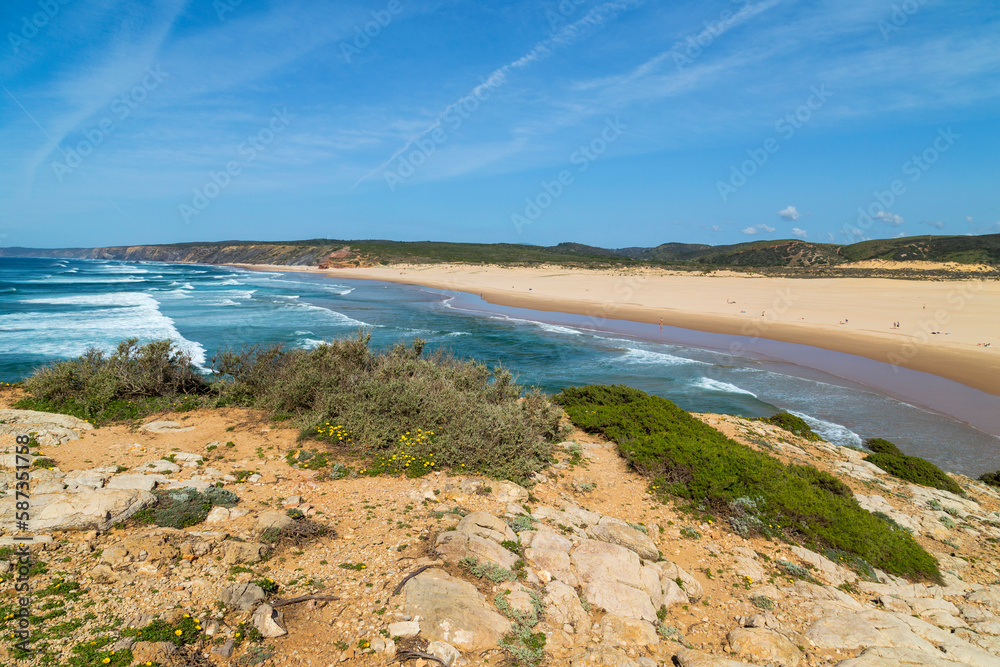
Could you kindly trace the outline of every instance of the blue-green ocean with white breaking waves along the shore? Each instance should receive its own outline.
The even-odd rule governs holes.
[[[997,436],[796,363],[792,348],[801,346],[786,345],[784,356],[736,356],[710,342],[692,344],[701,339],[683,330],[664,336],[653,325],[606,324],[491,306],[477,295],[315,274],[0,258],[0,381],[131,336],[170,338],[208,372],[212,356],[227,347],[310,348],[363,329],[377,348],[419,337],[428,350],[500,364],[546,392],[627,384],[693,412],[760,417],[788,410],[839,445],[884,437],[946,470],[978,476],[1000,468]]]

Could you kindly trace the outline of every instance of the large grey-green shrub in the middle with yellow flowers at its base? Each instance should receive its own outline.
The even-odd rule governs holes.
[[[223,351],[212,360],[218,391],[232,404],[294,415],[304,437],[373,459],[405,452],[515,481],[549,464],[562,429],[541,393],[523,391],[501,368],[425,357],[419,339],[387,352],[369,341],[358,334],[312,350]],[[433,437],[402,441],[417,427]]]

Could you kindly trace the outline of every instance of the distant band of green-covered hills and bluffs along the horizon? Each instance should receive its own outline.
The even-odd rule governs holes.
[[[302,241],[218,241],[105,248],[0,248],[0,257],[62,257],[196,264],[284,264],[372,266],[397,262],[493,264],[674,264],[741,267],[834,267],[869,259],[1000,265],[1000,234],[912,236],[851,245],[798,239],[711,246],[664,243],[656,247],[609,249],[580,243],[533,246],[509,243],[446,243],[309,239]]]

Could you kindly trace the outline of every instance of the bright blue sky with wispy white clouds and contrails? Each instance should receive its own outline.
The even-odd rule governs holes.
[[[1000,7],[9,0],[0,245],[1000,232]]]

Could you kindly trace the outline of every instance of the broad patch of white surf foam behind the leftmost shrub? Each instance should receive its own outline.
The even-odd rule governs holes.
[[[84,294],[24,299],[21,303],[53,306],[91,306],[65,312],[28,312],[0,316],[0,331],[9,352],[79,356],[91,346],[113,349],[124,338],[162,340],[169,338],[205,368],[205,348],[177,330],[174,321],[160,312],[159,303],[141,292]]]

